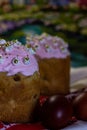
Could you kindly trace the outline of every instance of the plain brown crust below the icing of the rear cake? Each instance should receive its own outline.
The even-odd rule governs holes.
[[[39,60],[40,89],[42,95],[69,93],[70,56]]]

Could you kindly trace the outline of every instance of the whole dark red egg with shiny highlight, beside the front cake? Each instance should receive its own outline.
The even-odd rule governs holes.
[[[72,118],[71,102],[61,95],[49,97],[41,109],[41,119],[44,126],[52,130],[63,128]]]

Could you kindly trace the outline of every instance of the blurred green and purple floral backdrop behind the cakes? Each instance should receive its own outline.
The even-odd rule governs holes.
[[[72,67],[87,66],[87,0],[0,0],[0,38],[43,32],[69,44]]]

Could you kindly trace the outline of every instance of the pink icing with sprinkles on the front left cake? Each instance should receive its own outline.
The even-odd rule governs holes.
[[[36,71],[38,64],[34,55],[30,54],[21,42],[6,42],[0,39],[0,72],[7,72],[8,76],[19,72],[30,76]]]

